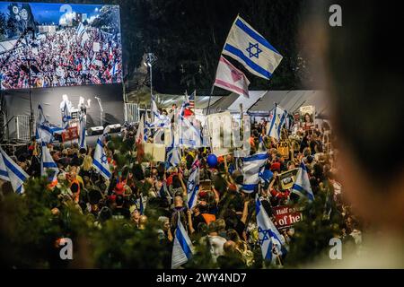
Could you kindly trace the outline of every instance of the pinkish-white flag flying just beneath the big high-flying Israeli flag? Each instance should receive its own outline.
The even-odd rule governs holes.
[[[246,98],[249,98],[249,84],[245,74],[227,61],[223,56],[220,57],[217,65],[215,86],[227,91],[233,91]]]

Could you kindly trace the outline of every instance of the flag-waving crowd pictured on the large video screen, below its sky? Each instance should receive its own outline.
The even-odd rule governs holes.
[[[25,58],[33,59],[31,86],[34,88],[120,83],[121,55],[120,35],[97,28],[87,27],[84,34],[68,27],[40,34],[38,39],[31,39],[30,45],[22,43],[0,56],[1,63],[9,57],[0,70],[2,89],[29,87]]]

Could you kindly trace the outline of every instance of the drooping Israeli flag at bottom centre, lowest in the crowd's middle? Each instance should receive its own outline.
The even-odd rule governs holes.
[[[172,247],[171,269],[177,269],[180,265],[188,262],[193,253],[193,245],[189,239],[178,214],[177,229],[175,230],[174,245]]]

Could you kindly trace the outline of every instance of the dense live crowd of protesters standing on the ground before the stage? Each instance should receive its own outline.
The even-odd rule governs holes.
[[[289,139],[291,149],[285,159],[266,134],[267,123],[263,119],[251,125],[250,154],[257,152],[259,141],[268,151],[266,169],[273,173],[268,182],[262,183],[259,196],[268,215],[277,225],[272,207],[294,204],[296,195],[283,190],[278,175],[293,170],[303,161],[307,167],[314,196],[330,192],[330,198],[343,216],[335,236],[351,242],[356,248],[361,244],[362,227],[351,213],[350,206],[343,202],[341,185],[338,183],[336,150],[329,143],[329,126],[303,131],[295,135],[283,135]],[[134,142],[135,130],[124,132],[123,141]],[[80,213],[92,215],[94,224],[102,229],[107,221],[131,222],[134,229],[144,230],[148,225],[147,214],[157,214],[160,229],[156,237],[168,249],[172,249],[178,216],[198,252],[206,252],[212,265],[219,268],[255,268],[262,266],[258,226],[255,220],[254,194],[242,191],[243,174],[237,169],[236,158],[229,154],[217,158],[217,164],[206,161],[208,148],[183,149],[180,164],[169,166],[166,162],[136,161],[136,156],[123,169],[118,168],[119,150],[109,146],[110,136],[104,137],[104,149],[110,163],[112,177],[105,180],[93,169],[92,147],[78,149],[73,143],[48,144],[53,160],[59,168],[58,184],[68,187],[61,195],[61,204],[54,206],[52,213],[60,213],[64,204],[74,204]],[[36,152],[38,144],[32,143],[29,152],[14,158],[31,176],[40,176],[40,160]],[[198,157],[200,189],[198,202],[189,209],[187,183],[193,162]],[[7,183],[3,184],[2,190]],[[285,242],[294,237],[294,229],[280,230]],[[356,248],[358,251],[359,248]],[[278,265],[283,258],[279,258]],[[170,258],[166,260],[170,262]],[[136,267],[136,266],[134,266]],[[169,263],[166,266],[170,267]]]

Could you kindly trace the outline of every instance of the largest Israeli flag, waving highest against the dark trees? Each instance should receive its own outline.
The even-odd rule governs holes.
[[[233,22],[222,54],[233,57],[250,73],[267,80],[282,60],[277,49],[240,16]]]

